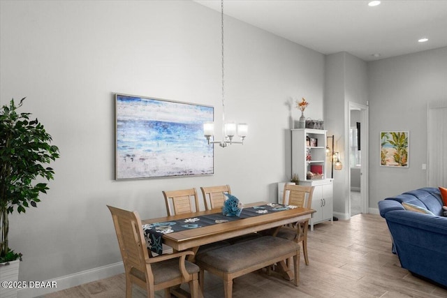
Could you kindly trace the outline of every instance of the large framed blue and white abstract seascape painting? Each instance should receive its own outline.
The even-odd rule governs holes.
[[[214,174],[214,107],[115,94],[115,179]]]

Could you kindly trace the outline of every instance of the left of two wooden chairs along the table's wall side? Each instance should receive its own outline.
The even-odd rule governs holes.
[[[199,211],[196,188],[163,191],[168,216]]]

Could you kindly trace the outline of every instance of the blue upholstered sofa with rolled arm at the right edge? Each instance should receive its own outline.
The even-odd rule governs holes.
[[[434,215],[407,211],[402,202],[432,211]],[[447,287],[447,217],[439,188],[420,188],[379,202],[386,219],[393,253],[411,274]]]

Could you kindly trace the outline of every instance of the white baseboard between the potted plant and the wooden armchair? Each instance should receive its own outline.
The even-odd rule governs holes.
[[[80,271],[74,274],[68,274],[58,278],[53,278],[45,283],[56,284],[55,288],[25,288],[17,290],[17,298],[33,298],[41,295],[47,295],[52,292],[65,290],[75,287],[76,285],[82,285],[82,283],[89,283],[91,281],[98,281],[99,279],[108,278],[124,272],[123,262],[117,262],[115,264],[105,265],[98,268],[93,268],[85,271]]]

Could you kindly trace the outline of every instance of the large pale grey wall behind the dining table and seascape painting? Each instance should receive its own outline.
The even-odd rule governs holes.
[[[242,202],[274,201],[289,179],[290,132],[304,96],[323,118],[323,54],[226,17],[226,112],[244,146],[216,147],[207,177],[114,181],[115,92],[214,105],[221,113],[220,13],[191,1],[1,1],[0,103],[27,96],[59,146],[50,191],[10,216],[20,281],[120,261],[106,204],[166,214],[162,190],[230,184]],[[292,108],[291,108],[292,107]],[[60,289],[59,289],[60,290]]]

